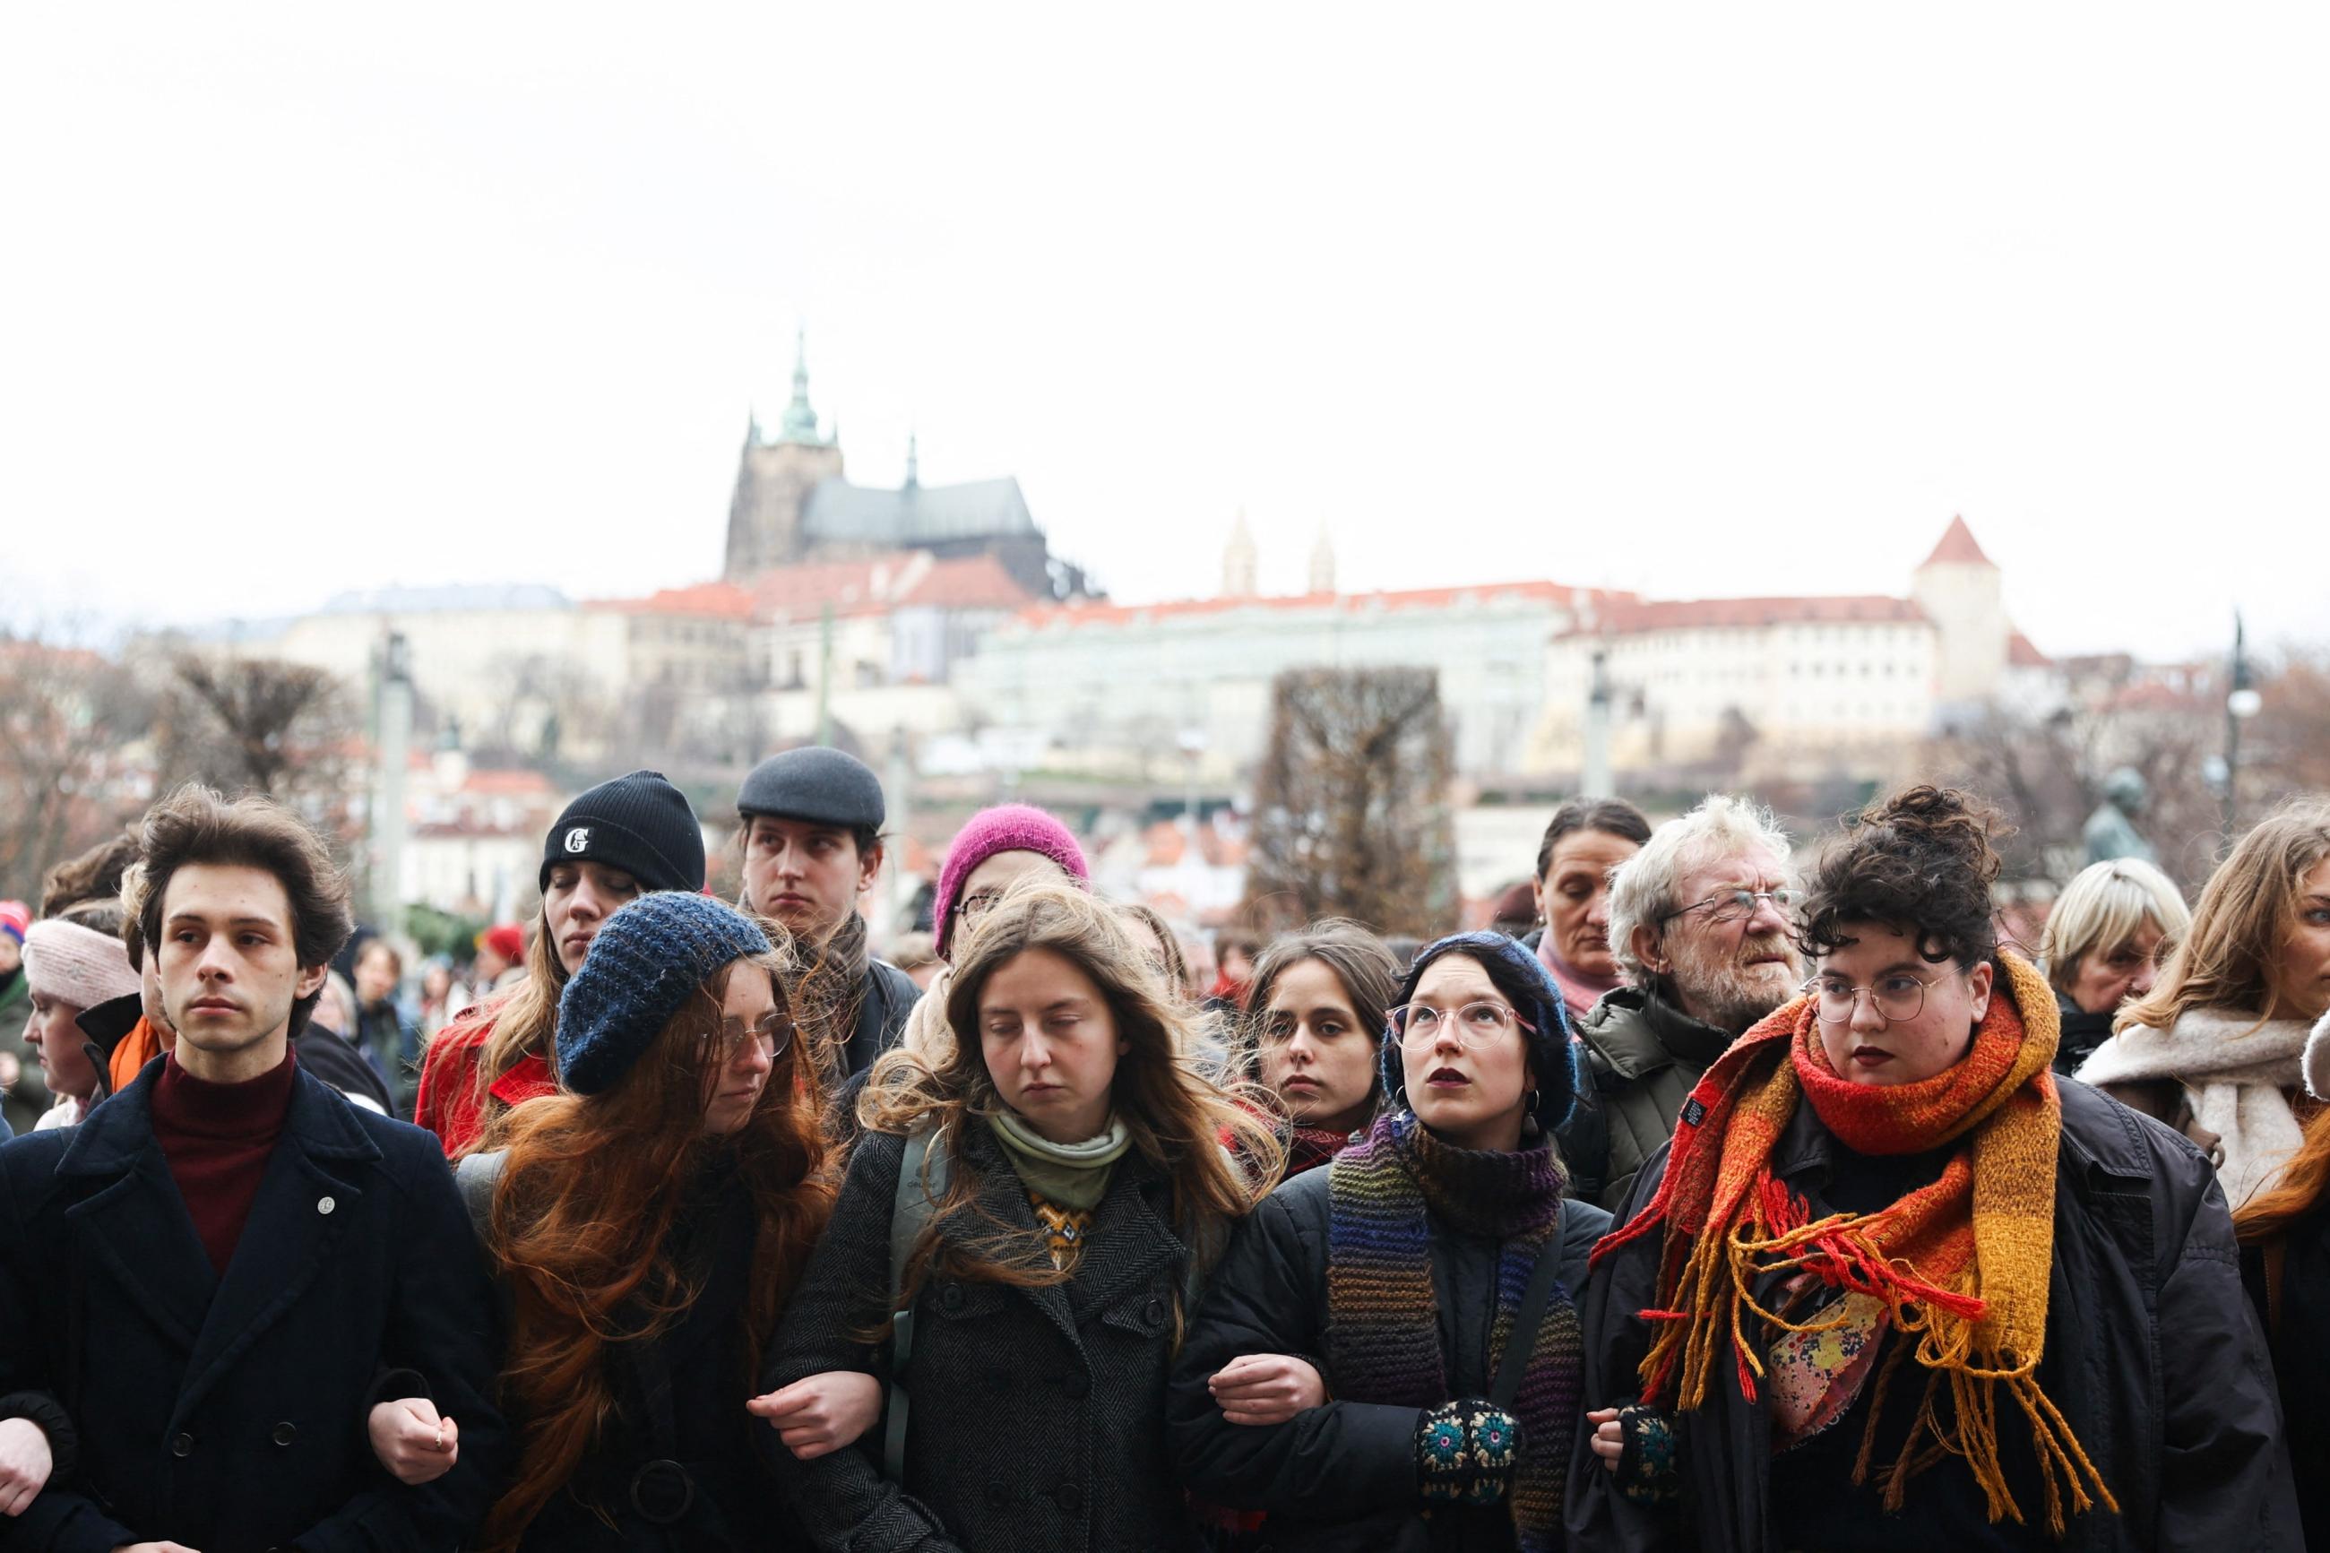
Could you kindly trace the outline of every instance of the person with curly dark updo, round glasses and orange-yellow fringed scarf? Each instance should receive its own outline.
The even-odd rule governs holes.
[[[1580,1546],[2297,1546],[2225,1199],[2053,1073],[1990,836],[1913,787],[1820,859],[1806,994],[1594,1253]]]

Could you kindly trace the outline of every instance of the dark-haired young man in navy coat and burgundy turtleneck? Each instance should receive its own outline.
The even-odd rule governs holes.
[[[436,1141],[291,1055],[347,887],[266,799],[182,789],[144,843],[177,1045],[79,1127],[0,1146],[0,1413],[51,1455],[0,1546],[454,1548],[508,1460],[492,1288]],[[419,1488],[366,1441],[412,1385],[391,1371],[459,1430]]]

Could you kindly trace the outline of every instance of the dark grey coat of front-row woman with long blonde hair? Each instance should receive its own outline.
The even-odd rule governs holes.
[[[981,1122],[955,1171],[979,1173],[972,1222],[1028,1236],[1035,1208]],[[827,1369],[888,1374],[890,1211],[906,1141],[869,1132],[850,1155],[832,1225],[785,1306],[762,1390]],[[820,1548],[853,1553],[1165,1553],[1195,1546],[1165,1451],[1165,1371],[1188,1248],[1172,1183],[1137,1150],[1067,1283],[1009,1288],[925,1278],[913,1299],[904,1485],[878,1469],[881,1427],[857,1448],[799,1462],[764,1430],[778,1483]],[[946,1220],[937,1220],[944,1225]]]

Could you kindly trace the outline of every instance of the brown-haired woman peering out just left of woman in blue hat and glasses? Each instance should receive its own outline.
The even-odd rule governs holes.
[[[1293,1122],[1286,1173],[1333,1160],[1375,1118],[1384,1020],[1400,966],[1358,922],[1286,934],[1254,962],[1249,1048],[1256,1078]]]

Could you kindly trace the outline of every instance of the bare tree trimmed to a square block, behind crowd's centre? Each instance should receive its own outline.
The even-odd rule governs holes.
[[[1433,936],[1456,915],[1449,726],[1428,668],[1295,668],[1272,687],[1244,913]]]

